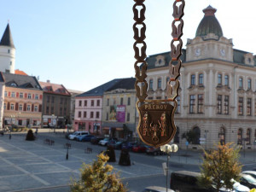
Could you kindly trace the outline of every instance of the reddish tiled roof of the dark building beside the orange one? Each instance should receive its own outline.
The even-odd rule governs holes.
[[[39,84],[46,93],[71,96],[69,91],[62,84],[52,84],[50,82],[42,81],[39,81]]]

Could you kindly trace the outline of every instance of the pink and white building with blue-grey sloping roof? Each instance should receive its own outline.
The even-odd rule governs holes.
[[[119,79],[113,79],[75,97],[74,131],[102,134],[103,93],[118,82]]]

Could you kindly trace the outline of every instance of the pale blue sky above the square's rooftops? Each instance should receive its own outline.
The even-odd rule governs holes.
[[[172,3],[146,0],[147,55],[170,51]],[[195,38],[202,9],[218,9],[224,37],[256,55],[255,0],[185,0],[183,48]],[[133,0],[0,0],[0,36],[8,24],[15,69],[40,81],[87,91],[112,79],[134,77]]]

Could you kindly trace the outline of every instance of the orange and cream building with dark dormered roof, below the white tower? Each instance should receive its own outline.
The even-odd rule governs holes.
[[[32,76],[3,73],[3,125],[41,127],[43,90]]]

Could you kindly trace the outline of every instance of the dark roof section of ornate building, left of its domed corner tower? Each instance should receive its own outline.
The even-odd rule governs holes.
[[[148,69],[152,69],[152,68],[156,68],[155,67],[155,62],[156,62],[156,56],[157,55],[162,55],[164,56],[164,60],[165,60],[165,66],[161,66],[161,67],[168,67],[169,66],[169,62],[172,60],[172,57],[170,55],[171,51],[168,52],[164,52],[164,53],[160,53],[160,54],[155,54],[155,55],[149,55],[146,59],[147,63],[148,63]],[[182,55],[180,56],[181,61],[186,61],[186,49],[182,49]],[[173,63],[175,64],[175,63]]]

